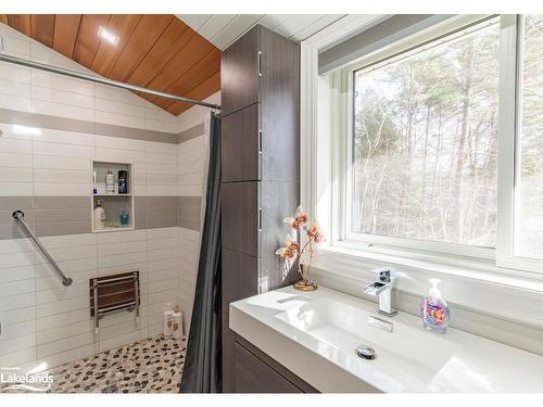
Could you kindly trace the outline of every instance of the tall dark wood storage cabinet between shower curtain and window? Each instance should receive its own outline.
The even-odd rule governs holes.
[[[236,392],[228,305],[288,285],[275,251],[299,202],[300,47],[255,26],[222,55],[223,390]]]

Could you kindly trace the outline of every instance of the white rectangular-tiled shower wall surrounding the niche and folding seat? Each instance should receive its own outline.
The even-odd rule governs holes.
[[[9,54],[91,73],[4,24],[0,35]],[[218,93],[210,100],[218,102]],[[205,110],[194,107],[175,117],[129,91],[8,63],[0,63],[0,109],[22,112],[23,119],[28,112],[88,120],[97,129],[98,124],[125,126],[135,135],[119,138],[0,123],[0,199],[89,196],[91,160],[132,162],[136,195],[203,194],[207,136],[172,144],[140,135],[142,130],[177,135],[202,124]],[[88,202],[90,211],[90,198]],[[8,216],[3,211],[0,215]],[[70,211],[75,218],[86,209]],[[49,209],[48,216],[59,215],[53,212]],[[166,227],[47,236],[41,241],[74,282],[63,287],[28,239],[0,240],[0,366],[49,368],[155,335],[162,331],[167,302],[181,306],[188,332],[200,231]],[[139,322],[134,313],[112,314],[101,320],[96,334],[89,279],[130,270],[139,270],[141,278]]]

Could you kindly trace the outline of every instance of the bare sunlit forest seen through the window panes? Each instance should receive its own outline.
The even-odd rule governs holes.
[[[503,39],[505,16],[492,16],[339,69],[348,128],[334,155],[338,241],[543,259],[543,16],[507,17],[514,42]],[[501,115],[514,118],[513,135]],[[510,207],[498,193],[509,187]]]

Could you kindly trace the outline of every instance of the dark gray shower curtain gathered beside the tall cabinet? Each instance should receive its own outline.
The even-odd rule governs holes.
[[[180,393],[220,392],[220,119],[212,114],[205,217]]]

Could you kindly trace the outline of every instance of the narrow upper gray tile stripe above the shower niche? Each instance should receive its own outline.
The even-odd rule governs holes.
[[[204,133],[203,123],[179,133],[174,133],[110,125],[106,123],[78,120],[75,118],[51,116],[39,113],[26,113],[10,109],[0,109],[0,123],[42,127],[53,130],[86,132],[89,135],[118,137],[123,139],[156,141],[168,144],[178,144]]]

